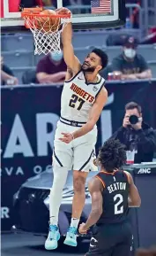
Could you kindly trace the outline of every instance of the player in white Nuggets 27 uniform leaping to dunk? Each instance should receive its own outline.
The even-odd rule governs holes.
[[[94,49],[81,65],[74,55],[71,38],[72,27],[69,23],[62,33],[63,58],[68,69],[63,85],[61,117],[57,123],[54,142],[54,180],[49,195],[50,224],[45,243],[47,250],[56,249],[60,237],[58,213],[63,186],[71,169],[74,197],[71,226],[64,244],[77,246],[78,222],[85,205],[85,180],[88,172],[93,170],[95,158],[96,122],[108,99],[108,92],[104,87],[105,80],[99,74],[108,64],[107,54],[100,49]]]

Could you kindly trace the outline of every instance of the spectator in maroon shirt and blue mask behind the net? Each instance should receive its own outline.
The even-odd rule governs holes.
[[[36,69],[36,79],[39,83],[61,83],[65,79],[67,66],[63,60],[63,51],[52,51],[41,58]]]

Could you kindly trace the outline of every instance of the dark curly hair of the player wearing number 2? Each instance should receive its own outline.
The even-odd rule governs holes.
[[[119,140],[108,139],[100,149],[98,160],[108,172],[122,168],[126,163],[125,146]]]

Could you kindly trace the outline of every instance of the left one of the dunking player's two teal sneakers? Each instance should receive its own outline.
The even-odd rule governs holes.
[[[49,225],[48,238],[45,242],[46,250],[55,250],[58,246],[58,240],[60,239],[60,232],[56,225]]]

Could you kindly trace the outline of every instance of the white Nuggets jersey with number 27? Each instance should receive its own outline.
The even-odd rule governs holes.
[[[89,112],[105,83],[98,74],[97,83],[87,83],[83,71],[69,81],[64,81],[61,98],[61,117],[66,120],[86,122]]]

